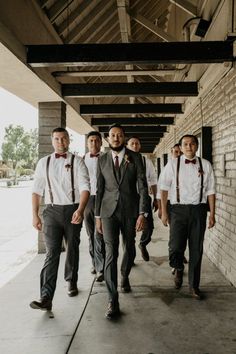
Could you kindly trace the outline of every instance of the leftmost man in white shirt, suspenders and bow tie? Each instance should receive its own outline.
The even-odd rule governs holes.
[[[83,213],[89,198],[89,176],[81,157],[68,152],[69,134],[64,128],[52,131],[54,152],[39,160],[33,185],[33,226],[42,230],[39,216],[41,197],[45,195],[43,231],[46,259],[40,274],[40,300],[33,309],[51,310],[63,237],[67,245],[65,280],[68,295],[78,294],[79,243]]]

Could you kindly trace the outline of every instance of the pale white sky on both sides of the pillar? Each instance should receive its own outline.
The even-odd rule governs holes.
[[[38,110],[0,87],[0,152],[4,140],[5,127],[22,125],[26,131],[38,128]],[[68,129],[72,135],[70,149],[84,155],[84,136]]]

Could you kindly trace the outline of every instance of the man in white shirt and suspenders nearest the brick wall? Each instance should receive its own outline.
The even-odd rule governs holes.
[[[170,266],[176,269],[175,288],[183,282],[184,251],[189,246],[189,290],[196,299],[199,289],[203,240],[206,229],[207,201],[210,207],[208,228],[215,224],[215,186],[211,164],[196,157],[198,139],[184,135],[180,139],[182,156],[171,159],[161,174],[162,222],[168,223],[167,197],[170,198]]]

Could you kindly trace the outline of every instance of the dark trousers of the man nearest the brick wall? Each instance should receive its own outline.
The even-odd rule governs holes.
[[[184,251],[188,241],[188,278],[191,288],[198,288],[200,284],[206,218],[206,204],[170,206],[170,266],[179,270],[184,268]]]

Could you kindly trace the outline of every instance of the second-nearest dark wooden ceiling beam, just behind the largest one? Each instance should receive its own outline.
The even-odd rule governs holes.
[[[197,82],[63,84],[64,97],[197,96]]]

